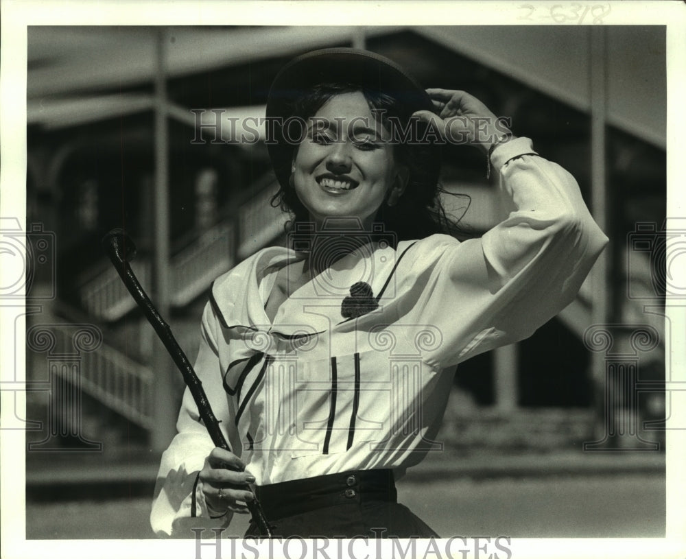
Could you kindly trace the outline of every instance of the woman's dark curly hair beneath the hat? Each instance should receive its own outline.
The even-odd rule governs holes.
[[[307,121],[335,95],[356,91],[362,92],[372,109],[372,114],[392,133],[392,137],[402,138],[403,132],[397,127],[407,126],[412,110],[388,93],[357,84],[330,83],[312,88],[293,104],[291,114],[296,117],[293,122]],[[419,125],[423,126],[422,123]],[[421,128],[419,133],[423,133]],[[423,239],[435,233],[464,236],[464,231],[446,214],[440,201],[440,194],[447,193],[438,182],[441,165],[440,144],[399,141],[395,143],[394,149],[397,150],[398,160],[403,161],[410,171],[407,187],[394,206],[381,204],[375,222],[383,223],[386,230],[393,232],[399,241]],[[293,150],[295,154],[297,146],[294,146]],[[309,213],[292,187],[281,185],[272,198],[272,206],[281,206],[283,211],[292,213],[295,223],[309,221]],[[294,222],[289,225],[292,226]]]

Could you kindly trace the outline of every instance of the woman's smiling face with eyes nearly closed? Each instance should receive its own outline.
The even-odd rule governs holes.
[[[338,217],[370,228],[387,191],[404,186],[407,177],[390,133],[359,91],[331,97],[307,126],[292,165],[300,202],[318,224]]]

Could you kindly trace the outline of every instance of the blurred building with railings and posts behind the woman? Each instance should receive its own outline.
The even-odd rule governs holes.
[[[234,141],[225,127],[233,137],[216,139],[213,119],[263,115],[287,60],[351,45],[397,60],[426,86],[469,91],[512,117],[515,134],[575,176],[611,238],[600,272],[563,313],[529,340],[460,366],[448,442],[549,449],[600,441],[609,449],[663,440],[644,425],[659,426],[666,414],[663,27],[29,27],[28,44],[27,226],[54,232],[57,265],[54,278],[34,280],[36,289],[55,281],[56,298],[27,326],[54,325],[55,345],[46,353],[29,344],[27,377],[45,381],[54,371],[55,383],[78,383],[80,392],[69,400],[78,413],[62,406],[48,422],[52,433],[29,434],[34,450],[93,441],[115,453],[165,447],[182,381],[100,239],[123,227],[136,240],[134,271],[192,361],[213,279],[283,243],[287,219],[269,204],[276,182],[263,142]],[[473,235],[507,211],[476,150],[449,147],[442,183],[458,194],[446,204],[464,213],[461,224]],[[78,378],[56,366],[60,348],[73,346],[62,327],[69,324],[102,334],[97,348],[79,354]],[[601,329],[613,349],[595,344],[592,324],[614,325]],[[655,343],[634,344],[641,331]],[[627,374],[635,398],[612,388]],[[55,399],[67,389],[57,384],[31,397],[29,418],[59,407]],[[628,410],[626,425],[608,425],[613,409]],[[634,432],[606,436],[624,427]]]

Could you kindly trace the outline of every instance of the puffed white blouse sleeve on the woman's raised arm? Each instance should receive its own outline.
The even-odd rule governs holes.
[[[491,160],[514,206],[507,219],[480,239],[440,235],[425,239],[428,250],[419,241],[407,252],[416,268],[408,277],[421,289],[405,320],[438,332],[442,342],[426,356],[436,367],[530,336],[576,297],[608,242],[576,180],[529,139],[498,146]],[[425,255],[436,250],[427,267]]]

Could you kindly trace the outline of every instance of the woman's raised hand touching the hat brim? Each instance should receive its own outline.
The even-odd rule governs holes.
[[[449,143],[474,145],[488,153],[488,148],[504,134],[509,134],[506,119],[496,117],[486,105],[466,91],[427,89],[436,112],[418,110],[415,117],[432,123]]]

